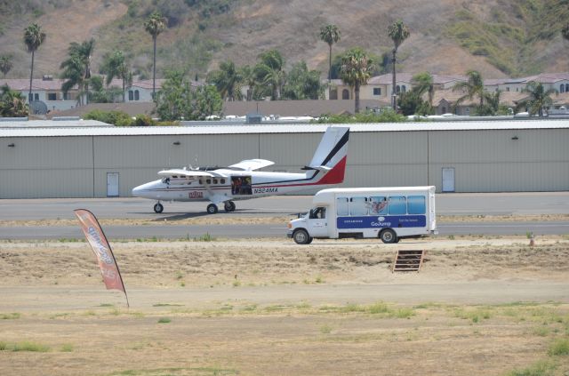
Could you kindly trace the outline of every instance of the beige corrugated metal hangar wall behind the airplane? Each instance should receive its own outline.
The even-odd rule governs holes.
[[[320,133],[5,138],[0,198],[105,197],[108,172],[119,173],[119,195],[131,196],[157,171],[196,160],[227,166],[260,157],[276,162],[268,171],[301,172],[320,139]],[[351,132],[343,186],[440,191],[442,169],[451,167],[456,192],[569,190],[567,145],[569,129]]]

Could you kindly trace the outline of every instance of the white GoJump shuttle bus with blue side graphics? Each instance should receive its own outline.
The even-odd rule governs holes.
[[[344,237],[397,243],[437,234],[434,186],[323,189],[312,203],[307,214],[288,224],[287,236],[297,244]]]

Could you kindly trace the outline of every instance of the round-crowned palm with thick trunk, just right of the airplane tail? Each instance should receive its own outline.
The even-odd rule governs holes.
[[[352,48],[342,57],[340,76],[344,84],[354,88],[355,113],[359,113],[359,88],[367,84],[373,68],[373,60],[359,47]]]

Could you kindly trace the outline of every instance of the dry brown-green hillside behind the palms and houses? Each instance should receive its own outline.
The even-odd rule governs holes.
[[[254,64],[260,52],[281,51],[287,65],[306,60],[327,71],[328,46],[319,28],[341,28],[339,53],[359,45],[381,56],[389,52],[387,28],[401,19],[411,37],[400,47],[400,71],[429,70],[485,77],[525,76],[569,70],[567,43],[560,36],[569,1],[553,0],[0,0],[0,55],[11,54],[8,77],[26,77],[29,54],[22,42],[31,22],[44,28],[36,52],[36,76],[57,76],[68,44],[96,39],[94,70],[113,49],[125,52],[136,74],[151,71],[152,39],[143,28],[158,10],[168,28],[158,36],[158,75],[169,68],[204,76],[220,60]]]

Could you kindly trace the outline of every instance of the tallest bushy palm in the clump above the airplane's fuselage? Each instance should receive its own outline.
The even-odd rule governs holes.
[[[284,59],[281,52],[269,50],[259,55],[260,62],[255,65],[256,91],[265,88],[270,92],[272,100],[280,100],[286,75],[284,74]]]

